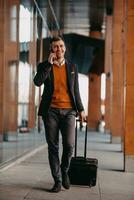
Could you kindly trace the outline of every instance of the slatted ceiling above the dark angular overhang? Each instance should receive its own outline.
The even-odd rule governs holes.
[[[35,6],[43,27],[52,31],[89,36],[90,30],[105,28],[105,16],[113,12],[113,0],[21,0]]]

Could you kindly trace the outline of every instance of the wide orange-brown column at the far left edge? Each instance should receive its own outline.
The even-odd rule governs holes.
[[[18,10],[19,2],[0,1],[1,62],[1,125],[0,132],[8,140],[9,132],[17,130],[18,99]]]

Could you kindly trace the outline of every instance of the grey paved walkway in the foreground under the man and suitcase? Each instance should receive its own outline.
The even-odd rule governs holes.
[[[98,170],[93,188],[71,186],[49,193],[53,185],[47,146],[0,170],[0,200],[134,200],[134,173]]]

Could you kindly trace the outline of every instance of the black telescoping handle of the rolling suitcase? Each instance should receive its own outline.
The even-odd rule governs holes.
[[[76,120],[76,128],[75,128],[75,149],[74,149],[74,157],[77,156],[77,128],[78,128],[79,119]],[[85,144],[84,144],[84,158],[87,157],[87,120],[84,121],[86,123],[86,130],[85,130]]]

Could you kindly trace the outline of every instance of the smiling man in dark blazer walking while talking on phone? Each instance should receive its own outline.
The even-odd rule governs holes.
[[[38,114],[42,116],[48,157],[54,186],[51,192],[59,192],[61,186],[69,189],[68,170],[75,141],[75,117],[86,119],[78,86],[78,73],[74,64],[65,60],[65,43],[61,37],[51,40],[48,60],[37,66],[34,77],[36,86],[44,84]],[[62,135],[63,152],[59,159],[59,131]]]

